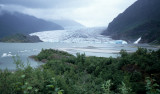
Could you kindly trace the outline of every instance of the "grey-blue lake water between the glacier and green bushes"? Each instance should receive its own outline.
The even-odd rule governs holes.
[[[125,49],[128,52],[134,52],[137,47],[144,47],[149,49],[158,49],[156,47],[147,44],[89,44],[89,43],[0,43],[0,69],[8,68],[14,70],[16,68],[13,63],[13,56],[18,55],[21,60],[26,64],[29,60],[32,67],[37,67],[42,63],[36,62],[28,56],[37,55],[42,48],[44,49],[59,49],[67,51],[71,54],[85,53],[87,56],[99,56],[99,57],[117,57],[118,52],[121,49]]]

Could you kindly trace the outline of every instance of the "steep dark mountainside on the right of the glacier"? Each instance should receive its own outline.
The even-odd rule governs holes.
[[[102,33],[113,39],[160,43],[160,0],[137,0],[119,14]]]

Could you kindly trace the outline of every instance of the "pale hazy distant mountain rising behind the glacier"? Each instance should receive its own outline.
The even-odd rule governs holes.
[[[68,28],[85,28],[82,24],[69,19],[53,20],[54,23],[63,26],[65,29]]]

